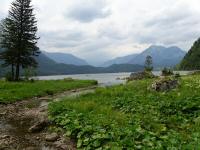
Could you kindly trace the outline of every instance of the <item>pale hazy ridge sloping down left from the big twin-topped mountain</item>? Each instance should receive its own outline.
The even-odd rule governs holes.
[[[132,54],[132,55],[124,56],[124,57],[117,57],[115,59],[105,62],[102,66],[107,67],[107,66],[111,66],[113,64],[127,64],[129,61],[131,61],[137,55],[138,54]]]

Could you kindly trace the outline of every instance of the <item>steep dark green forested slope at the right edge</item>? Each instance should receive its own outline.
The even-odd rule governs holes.
[[[193,44],[192,48],[185,55],[180,63],[181,70],[200,69],[200,38]]]

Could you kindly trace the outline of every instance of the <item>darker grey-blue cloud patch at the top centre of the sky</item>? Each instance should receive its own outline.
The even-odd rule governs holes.
[[[79,22],[92,22],[96,19],[106,18],[110,11],[103,0],[84,0],[74,3],[66,16]]]

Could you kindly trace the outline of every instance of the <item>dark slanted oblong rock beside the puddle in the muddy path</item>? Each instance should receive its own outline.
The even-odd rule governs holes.
[[[49,122],[46,119],[36,122],[32,127],[29,128],[29,132],[35,133],[44,130],[48,126]]]

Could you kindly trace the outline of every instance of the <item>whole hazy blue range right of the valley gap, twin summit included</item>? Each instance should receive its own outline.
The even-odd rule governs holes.
[[[102,66],[120,64],[120,62],[144,65],[146,56],[150,55],[153,58],[153,66],[155,68],[174,67],[181,62],[185,54],[186,52],[177,46],[151,45],[139,54],[117,57],[105,62]]]

